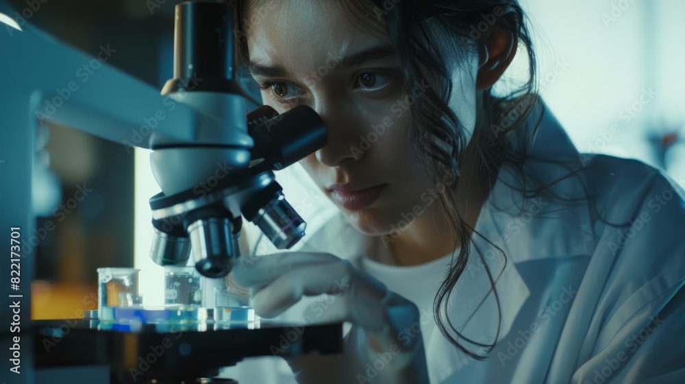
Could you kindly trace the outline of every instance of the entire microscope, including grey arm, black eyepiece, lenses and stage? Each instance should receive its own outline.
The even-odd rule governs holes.
[[[0,12],[7,10],[0,2]],[[32,232],[35,217],[30,194],[27,197],[21,191],[32,189],[36,112],[46,100],[62,97],[51,121],[118,143],[131,143],[131,132],[142,119],[169,100],[176,102],[173,118],[164,119],[145,140],[135,143],[153,149],[151,167],[162,190],[149,200],[154,232],[150,255],[158,265],[192,264],[208,280],[223,282],[232,265],[244,257],[238,246],[242,217],[278,249],[291,248],[303,237],[306,223],[286,201],[273,171],[323,147],[326,128],[308,106],[280,115],[269,106],[246,110],[246,95],[236,82],[235,17],[228,3],[179,3],[173,78],[161,93],[102,64],[99,76],[69,93],[68,100],[55,84],[90,58],[55,42],[30,23],[9,36],[0,34],[5,51],[0,67],[5,73],[20,73],[27,60],[54,59],[29,79],[18,81],[5,75],[5,86],[15,92],[0,107],[0,182],[5,189],[0,222],[6,230],[11,228],[12,239],[16,234],[19,251],[13,260],[23,265],[21,283],[3,299],[3,308],[21,307],[21,311],[3,311],[0,316],[3,324],[15,317],[21,320],[21,326],[10,328],[10,333],[8,329],[0,332],[2,350],[10,350],[10,358],[14,353],[24,372],[10,376],[17,380],[10,383],[40,383],[47,377],[41,376],[41,370],[67,367],[79,382],[92,368],[105,367],[111,383],[236,383],[215,376],[220,368],[245,357],[274,355],[274,346],[285,357],[342,350],[342,324],[262,321],[248,328],[199,321],[103,328],[101,319],[86,316],[65,328],[64,321],[29,319],[34,254],[21,252],[21,234],[27,237]],[[3,276],[10,275],[9,265],[3,263],[0,268]],[[45,339],[54,340],[55,335],[59,344],[47,348]],[[151,353],[153,363],[148,359]],[[3,359],[5,364],[7,360]],[[141,362],[147,364],[141,367]],[[10,372],[9,367],[3,366],[3,372]]]

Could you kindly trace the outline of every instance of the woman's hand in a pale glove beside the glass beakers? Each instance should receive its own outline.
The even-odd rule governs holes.
[[[258,315],[275,317],[303,296],[334,295],[317,320],[352,323],[341,355],[289,358],[299,383],[428,383],[416,304],[332,254],[241,256],[233,280],[250,287]],[[412,327],[413,326],[413,327]],[[401,337],[400,337],[401,336]]]

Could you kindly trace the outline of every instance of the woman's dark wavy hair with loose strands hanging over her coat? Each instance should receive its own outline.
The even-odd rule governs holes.
[[[251,20],[253,12],[256,12],[256,4],[264,0],[234,1],[238,12],[238,23],[236,29],[238,33],[238,60],[240,65],[245,66],[249,61],[247,50],[246,21]],[[247,4],[246,4],[247,3]],[[388,7],[388,4],[392,5]],[[340,1],[340,5],[356,15],[356,21],[361,21],[365,27],[370,27],[376,31],[385,28],[385,32],[397,51],[399,59],[403,65],[403,75],[406,91],[410,92],[410,86],[414,81],[426,79],[430,84],[437,84],[427,89],[423,97],[416,98],[412,104],[411,112],[413,117],[412,127],[410,128],[410,138],[416,154],[427,169],[434,185],[440,183],[440,178],[445,173],[460,173],[459,167],[466,151],[466,136],[460,127],[460,121],[456,114],[449,108],[449,97],[451,95],[451,75],[447,70],[446,58],[441,57],[440,49],[435,39],[435,35],[427,29],[427,21],[435,23],[440,34],[451,36],[456,52],[469,53],[473,50],[478,51],[484,46],[486,34],[479,29],[482,22],[490,23],[492,17],[497,18],[499,25],[510,29],[514,34],[514,39],[519,45],[525,47],[527,61],[529,64],[528,79],[525,84],[510,92],[509,95],[497,96],[493,90],[488,88],[482,91],[482,97],[477,100],[476,126],[473,138],[469,143],[469,148],[473,148],[476,155],[477,167],[475,174],[482,177],[479,180],[487,191],[497,178],[497,171],[505,161],[522,164],[525,160],[521,156],[511,154],[504,150],[508,144],[509,132],[519,127],[530,115],[538,101],[536,93],[536,59],[532,47],[532,40],[526,26],[526,16],[517,0],[356,0]],[[385,7],[385,8],[384,8]],[[369,23],[369,15],[377,16],[379,23]],[[501,19],[504,18],[504,19]],[[364,22],[366,20],[366,22]],[[490,27],[488,25],[488,27]],[[519,49],[519,52],[522,49]],[[515,112],[515,113],[512,113]],[[514,117],[510,119],[510,117]],[[542,115],[540,115],[539,125]],[[438,145],[442,141],[447,145]],[[466,224],[462,213],[460,213],[456,203],[456,191],[443,189],[443,193],[438,196],[438,203],[445,217],[451,224],[453,237],[455,240],[453,249],[456,249],[460,241],[459,254],[456,258],[452,257],[451,267],[434,301],[434,314],[440,331],[447,337],[452,344],[462,350],[466,355],[474,359],[485,359],[486,355],[494,348],[499,338],[499,326],[497,335],[492,344],[482,344],[462,335],[446,320],[440,313],[440,309],[447,309],[447,303],[456,285],[458,278],[471,257],[470,247],[471,233],[475,232],[469,224]],[[539,192],[539,191],[538,191]],[[477,235],[481,236],[477,233]],[[484,237],[483,237],[484,238]],[[484,238],[485,239],[485,238]],[[506,255],[501,248],[485,239],[493,245],[506,261]],[[497,276],[490,273],[484,256],[480,250],[475,248],[479,258],[483,261],[493,287],[493,293],[499,307],[499,298],[494,289]],[[501,321],[501,309],[499,310]],[[499,322],[498,322],[499,323]],[[449,330],[448,330],[449,326]],[[454,337],[450,330],[457,335]],[[460,339],[474,346],[477,350],[485,348],[485,354],[479,354],[472,348],[462,345]]]

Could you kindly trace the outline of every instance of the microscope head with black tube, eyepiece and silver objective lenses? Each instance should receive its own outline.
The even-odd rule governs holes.
[[[175,12],[174,78],[162,95],[179,95],[208,120],[197,122],[193,143],[151,135],[152,170],[162,188],[150,200],[151,256],[160,265],[186,265],[192,253],[199,273],[221,278],[239,257],[241,215],[278,249],[303,237],[306,224],[273,170],[323,147],[326,131],[307,106],[282,115],[262,106],[245,119],[245,97],[235,81],[232,6],[185,2]],[[210,185],[218,168],[227,177]]]

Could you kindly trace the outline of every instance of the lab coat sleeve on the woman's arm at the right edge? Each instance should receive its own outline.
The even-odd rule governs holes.
[[[606,226],[597,243],[593,258],[612,263],[571,383],[685,383],[684,194],[643,165],[628,181],[606,200],[609,221],[630,226]]]

